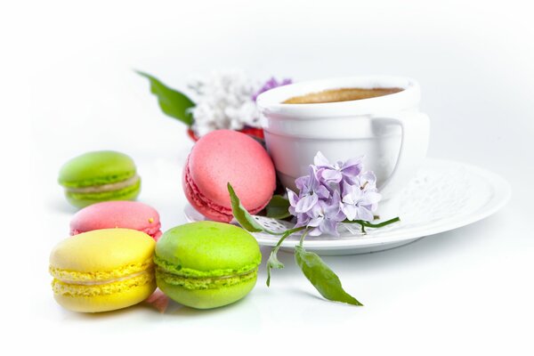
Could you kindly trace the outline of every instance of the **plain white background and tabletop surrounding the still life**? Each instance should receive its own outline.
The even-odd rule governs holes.
[[[4,215],[10,242],[3,271],[11,285],[2,290],[4,347],[15,353],[531,354],[534,25],[525,4],[2,3],[3,172],[26,191]],[[271,288],[263,283],[263,265],[255,290],[226,308],[67,312],[53,301],[47,273],[49,251],[67,237],[75,211],[56,183],[67,159],[86,150],[130,154],[143,178],[140,200],[158,208],[165,230],[184,222],[180,172],[192,142],[181,123],[160,113],[133,69],[176,88],[213,69],[245,69],[257,79],[417,78],[422,109],[432,118],[429,156],[502,174],[513,198],[489,219],[407,247],[325,258],[362,308],[322,300],[292,256],[280,254],[286,269],[275,271]],[[31,131],[31,143],[15,142],[7,129],[14,122],[24,137]],[[31,174],[22,180],[17,173],[28,165],[12,155],[20,146],[31,157]],[[17,190],[5,190],[15,197]]]

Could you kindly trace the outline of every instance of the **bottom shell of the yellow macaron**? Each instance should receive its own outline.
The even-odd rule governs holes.
[[[130,287],[112,295],[59,295],[54,299],[72,312],[109,312],[123,309],[147,299],[156,289],[156,280],[141,286]]]

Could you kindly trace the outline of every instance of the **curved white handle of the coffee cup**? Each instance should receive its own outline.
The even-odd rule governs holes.
[[[378,187],[384,198],[391,198],[402,182],[413,177],[426,156],[430,132],[429,117],[421,112],[402,114],[399,117],[373,117],[381,125],[400,125],[401,150],[392,174]]]

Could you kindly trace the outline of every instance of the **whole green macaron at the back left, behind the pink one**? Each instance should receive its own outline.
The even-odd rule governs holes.
[[[141,190],[134,160],[112,150],[70,159],[61,167],[58,181],[69,203],[77,207],[108,200],[134,200]]]

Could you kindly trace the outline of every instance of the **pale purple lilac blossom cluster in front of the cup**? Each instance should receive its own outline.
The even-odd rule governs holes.
[[[331,164],[317,152],[313,162],[309,174],[295,180],[298,194],[287,190],[295,227],[312,228],[312,236],[338,236],[337,225],[344,220],[374,219],[373,212],[382,197],[376,189],[375,174],[363,172],[362,158]]]

